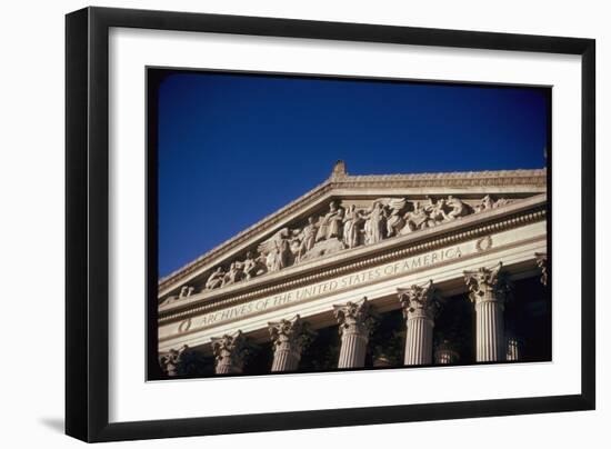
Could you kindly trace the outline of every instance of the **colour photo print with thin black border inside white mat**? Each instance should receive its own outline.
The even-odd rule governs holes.
[[[149,380],[552,361],[551,88],[147,92]]]

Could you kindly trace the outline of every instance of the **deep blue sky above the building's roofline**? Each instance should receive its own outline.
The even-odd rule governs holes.
[[[178,72],[159,88],[159,275],[351,174],[544,166],[535,89]]]

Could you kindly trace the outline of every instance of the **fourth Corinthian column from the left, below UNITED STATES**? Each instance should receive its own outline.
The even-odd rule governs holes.
[[[367,298],[357,302],[333,306],[340,325],[341,349],[338,368],[364,366],[367,343],[373,325],[371,305]]]

